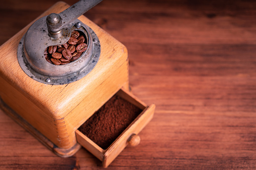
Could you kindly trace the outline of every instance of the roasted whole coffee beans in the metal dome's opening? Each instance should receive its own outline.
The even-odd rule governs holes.
[[[77,60],[87,50],[86,37],[80,31],[73,31],[67,43],[50,46],[44,50],[44,58],[51,64],[64,65]]]

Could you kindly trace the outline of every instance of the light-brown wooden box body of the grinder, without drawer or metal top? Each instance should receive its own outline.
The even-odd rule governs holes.
[[[60,13],[69,6],[55,4],[39,18]],[[78,18],[97,34],[101,55],[86,77],[65,85],[48,85],[27,76],[17,60],[17,48],[25,27],[0,47],[0,95],[4,103],[23,117],[58,148],[69,150],[76,144],[75,130],[121,87],[128,89],[127,49],[84,16]],[[37,20],[37,19],[36,19]],[[35,21],[36,21],[35,20]],[[60,155],[72,153],[61,153]]]

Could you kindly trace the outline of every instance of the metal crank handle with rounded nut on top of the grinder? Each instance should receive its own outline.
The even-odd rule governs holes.
[[[102,0],[80,0],[59,14],[50,14],[46,18],[49,36],[59,38],[62,36],[62,28],[86,13]]]

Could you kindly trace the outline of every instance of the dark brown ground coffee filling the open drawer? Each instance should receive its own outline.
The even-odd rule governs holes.
[[[107,149],[141,112],[137,106],[115,95],[78,130]]]

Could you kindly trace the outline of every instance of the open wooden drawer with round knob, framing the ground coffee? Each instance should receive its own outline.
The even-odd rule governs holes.
[[[125,101],[128,101],[130,104],[139,108],[140,112],[138,113],[138,115],[136,115],[132,122],[128,124],[128,126],[124,127],[125,130],[123,130],[121,134],[119,134],[118,137],[115,138],[109,146],[105,146],[105,149],[103,149],[104,147],[100,147],[98,144],[96,144],[96,142],[90,139],[88,137],[90,136],[90,132],[88,131],[91,130],[84,131],[84,133],[89,133],[88,135],[85,135],[81,132],[81,127],[83,125],[87,126],[87,121],[92,121],[93,119],[91,118],[93,118],[94,115],[90,118],[91,120],[88,119],[83,125],[81,125],[80,128],[78,128],[78,130],[75,131],[77,142],[80,143],[84,148],[89,150],[91,153],[93,153],[101,161],[103,161],[103,167],[107,167],[128,144],[131,146],[136,146],[137,144],[139,144],[140,138],[137,134],[152,119],[155,109],[154,104],[147,106],[137,97],[124,89],[120,89],[113,97],[116,96],[118,96],[118,98],[121,98],[122,100],[124,99]],[[108,102],[110,102],[110,100]],[[105,103],[105,105],[107,103]],[[95,114],[97,114],[97,112]],[[122,123],[122,121],[120,121],[120,123]],[[96,133],[93,133],[91,135],[96,135]]]

